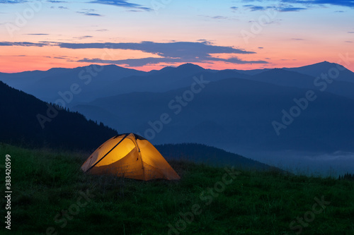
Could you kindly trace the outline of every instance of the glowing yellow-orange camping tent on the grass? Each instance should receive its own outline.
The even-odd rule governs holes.
[[[107,140],[82,164],[90,174],[140,179],[180,179],[154,145],[140,135],[125,133]]]

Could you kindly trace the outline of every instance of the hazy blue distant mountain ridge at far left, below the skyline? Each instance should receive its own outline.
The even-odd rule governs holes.
[[[73,84],[77,84],[80,92],[74,94],[72,102],[79,102],[81,100],[88,101],[96,95],[101,97],[102,94],[98,94],[98,91],[115,80],[127,76],[144,76],[145,74],[146,72],[143,71],[115,65],[91,65],[78,68],[52,68],[48,71],[2,73],[0,80],[46,102],[62,99],[59,92],[65,94],[70,91]],[[69,107],[69,105],[67,106]]]

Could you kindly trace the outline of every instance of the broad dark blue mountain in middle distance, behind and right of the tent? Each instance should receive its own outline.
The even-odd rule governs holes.
[[[228,78],[207,83],[193,99],[178,102],[177,97],[183,97],[188,90],[190,86],[160,93],[134,92],[100,98],[73,109],[89,118],[96,115],[98,107],[104,109],[104,113],[119,117],[116,121],[113,116],[105,116],[105,124],[123,132],[146,135],[155,144],[203,143],[257,150],[354,150],[354,101],[346,97]],[[306,97],[310,101],[304,101]],[[290,110],[296,117],[289,116]],[[161,125],[162,114],[169,116],[164,125]]]

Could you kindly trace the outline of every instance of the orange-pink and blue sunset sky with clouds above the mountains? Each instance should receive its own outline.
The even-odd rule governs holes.
[[[142,71],[299,67],[354,71],[354,1],[0,0],[0,72],[116,64]]]

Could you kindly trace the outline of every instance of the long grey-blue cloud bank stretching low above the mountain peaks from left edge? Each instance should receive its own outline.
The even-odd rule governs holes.
[[[139,42],[139,43],[64,43],[64,42],[0,42],[0,46],[57,46],[66,49],[130,49],[149,54],[156,57],[141,59],[122,59],[115,61],[101,61],[101,59],[82,59],[80,62],[106,63],[106,64],[127,64],[128,66],[144,66],[147,64],[159,63],[211,63],[212,61],[223,61],[231,64],[268,64],[267,61],[244,61],[234,54],[256,54],[244,49],[224,47],[211,44],[206,40],[200,42]],[[228,59],[217,58],[213,54],[229,54]],[[159,56],[159,57],[157,57]],[[101,61],[101,62],[100,62]]]

